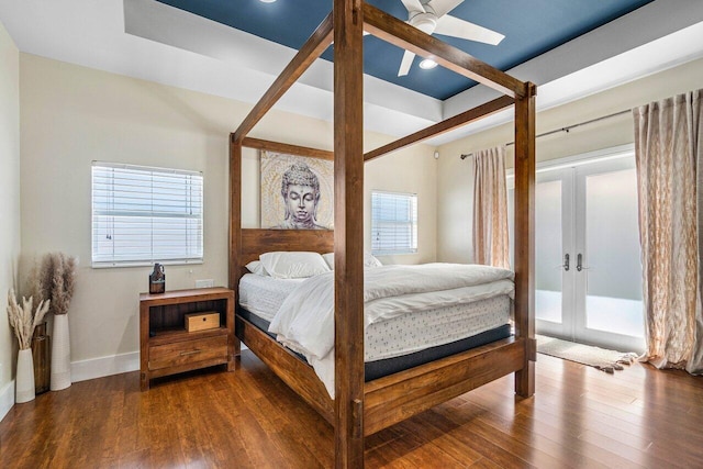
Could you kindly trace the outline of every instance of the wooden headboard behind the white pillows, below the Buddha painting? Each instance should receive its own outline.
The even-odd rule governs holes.
[[[272,250],[311,250],[325,254],[334,252],[333,230],[263,230],[242,228],[242,249],[239,266],[257,260],[259,255]]]

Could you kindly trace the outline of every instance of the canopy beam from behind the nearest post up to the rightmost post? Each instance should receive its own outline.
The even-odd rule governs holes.
[[[381,147],[372,149],[364,155],[364,160],[368,161],[391,152],[395,152],[406,146],[426,141],[427,138],[436,137],[437,135],[442,135],[446,132],[461,127],[470,122],[478,121],[479,119],[486,118],[487,115],[491,115],[495,112],[507,109],[513,105],[514,102],[515,100],[513,98],[506,96],[500,97],[498,99],[494,99],[493,101],[489,101],[477,108],[423,129],[422,131],[417,131],[414,134],[410,134],[405,137],[397,139],[395,142],[391,142],[388,145],[383,145]]]

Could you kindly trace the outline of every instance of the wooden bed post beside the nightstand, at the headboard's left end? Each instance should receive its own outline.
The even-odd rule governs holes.
[[[230,288],[234,290],[234,304],[239,304],[239,271],[242,263],[242,143],[230,134]],[[234,343],[234,355],[242,353],[239,339]]]

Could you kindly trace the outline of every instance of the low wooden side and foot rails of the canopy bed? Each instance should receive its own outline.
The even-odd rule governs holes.
[[[334,425],[334,401],[312,367],[236,317],[236,335],[283,382]],[[522,369],[525,339],[509,337],[365,383],[364,434],[377,433]]]

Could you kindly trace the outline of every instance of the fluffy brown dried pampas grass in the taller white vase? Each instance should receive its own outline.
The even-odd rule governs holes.
[[[44,255],[38,268],[32,272],[34,297],[51,300],[51,314],[66,314],[74,297],[76,258],[63,253]]]

